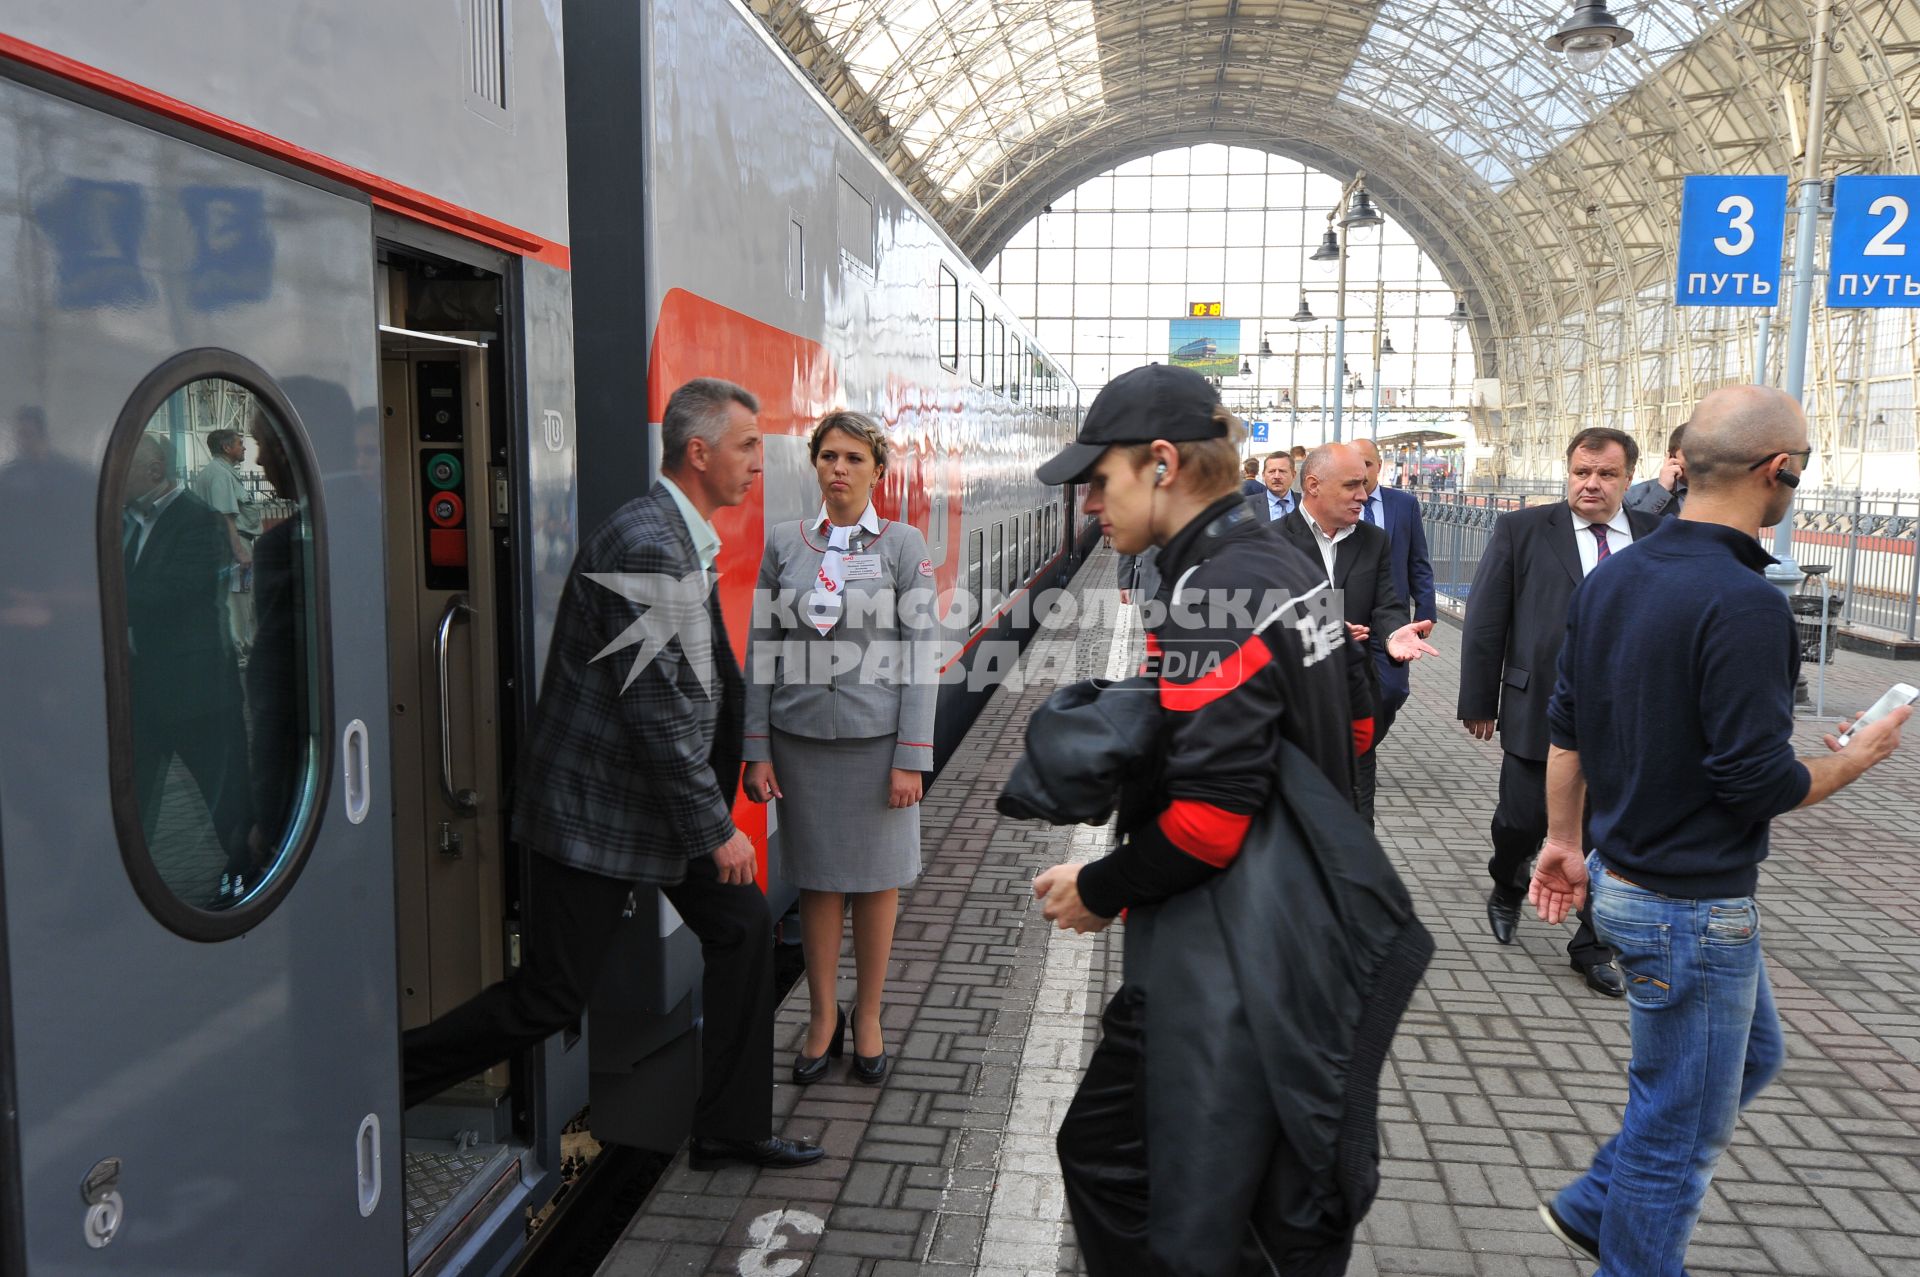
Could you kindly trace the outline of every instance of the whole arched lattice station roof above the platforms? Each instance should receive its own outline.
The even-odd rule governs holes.
[[[1803,0],[1609,0],[1634,40],[1588,73],[1546,50],[1572,0],[747,2],[981,265],[1173,146],[1365,171],[1467,300],[1478,374],[1542,422],[1563,369],[1674,342],[1680,179],[1795,173],[1807,129]],[[1920,4],[1837,13],[1826,171],[1912,171]]]

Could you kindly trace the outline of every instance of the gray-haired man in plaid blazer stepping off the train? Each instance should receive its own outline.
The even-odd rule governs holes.
[[[516,782],[526,962],[407,1033],[409,1104],[572,1024],[628,893],[657,885],[705,960],[693,1168],[820,1158],[772,1135],[772,920],[733,828],[745,697],[712,590],[710,517],[760,474],[758,411],[732,382],[676,390],[660,482],[580,547]]]

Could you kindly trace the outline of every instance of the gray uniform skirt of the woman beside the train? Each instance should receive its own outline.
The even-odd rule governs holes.
[[[920,878],[920,805],[887,807],[893,737],[816,741],[774,728],[780,849],[803,891],[889,891]]]

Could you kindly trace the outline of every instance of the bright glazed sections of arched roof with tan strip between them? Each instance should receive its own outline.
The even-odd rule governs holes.
[[[774,10],[793,10],[776,4]],[[1438,138],[1494,184],[1697,38],[1724,0],[1624,0],[1634,44],[1574,77],[1565,0],[812,0],[818,38],[950,200],[1062,121],[1217,117],[1338,98]]]

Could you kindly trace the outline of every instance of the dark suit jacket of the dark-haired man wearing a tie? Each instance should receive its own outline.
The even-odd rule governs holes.
[[[1661,520],[1630,509],[1626,524],[1638,542]],[[1467,595],[1459,716],[1498,718],[1501,749],[1536,762],[1548,757],[1548,701],[1567,638],[1567,603],[1586,580],[1576,538],[1565,501],[1501,515]]]

